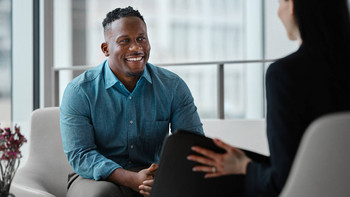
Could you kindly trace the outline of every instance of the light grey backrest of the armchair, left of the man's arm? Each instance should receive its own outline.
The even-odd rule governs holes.
[[[55,196],[66,196],[68,174],[72,168],[63,152],[60,110],[35,110],[31,116],[29,157],[24,168],[45,179],[45,187]]]

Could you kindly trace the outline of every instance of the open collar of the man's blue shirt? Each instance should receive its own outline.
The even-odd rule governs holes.
[[[149,74],[148,69],[149,69],[149,65],[147,63],[139,81],[142,78],[145,78],[146,81],[148,81],[150,84],[152,84],[152,78],[151,78],[151,75]],[[104,62],[104,70],[105,70],[104,72],[105,72],[105,88],[106,89],[108,89],[108,88],[114,86],[114,84],[120,82],[119,79],[112,72],[111,68],[109,67],[108,59],[105,60],[105,62]]]

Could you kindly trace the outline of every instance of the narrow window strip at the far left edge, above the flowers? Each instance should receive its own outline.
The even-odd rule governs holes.
[[[0,123],[11,124],[11,0],[0,0]]]

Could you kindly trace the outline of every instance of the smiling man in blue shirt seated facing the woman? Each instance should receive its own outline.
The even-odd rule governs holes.
[[[60,107],[63,148],[76,172],[67,196],[148,196],[169,124],[203,134],[202,124],[185,82],[147,63],[151,47],[137,10],[117,8],[103,27],[108,59],[72,80]]]

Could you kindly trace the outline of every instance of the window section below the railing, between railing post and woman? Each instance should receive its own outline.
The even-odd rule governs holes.
[[[225,118],[264,118],[264,64],[225,65]]]

